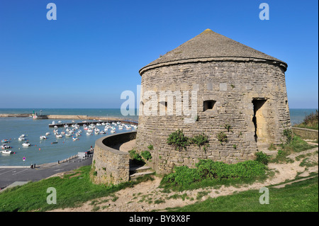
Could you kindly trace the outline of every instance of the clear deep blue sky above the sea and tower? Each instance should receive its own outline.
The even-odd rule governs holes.
[[[269,21],[259,19],[262,2]],[[140,68],[206,28],[286,62],[290,108],[318,108],[310,0],[1,0],[1,108],[119,108]]]

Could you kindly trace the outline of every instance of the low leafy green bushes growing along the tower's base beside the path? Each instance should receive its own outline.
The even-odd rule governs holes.
[[[185,191],[197,188],[237,186],[263,181],[271,174],[264,164],[247,160],[237,164],[214,162],[201,159],[196,168],[176,166],[171,174],[165,175],[160,183],[164,191]]]

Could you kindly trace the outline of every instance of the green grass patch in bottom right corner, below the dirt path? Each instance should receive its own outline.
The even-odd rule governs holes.
[[[318,212],[318,176],[306,181],[269,188],[269,204],[260,204],[259,190],[243,191],[231,196],[220,196],[198,201],[174,212]]]

